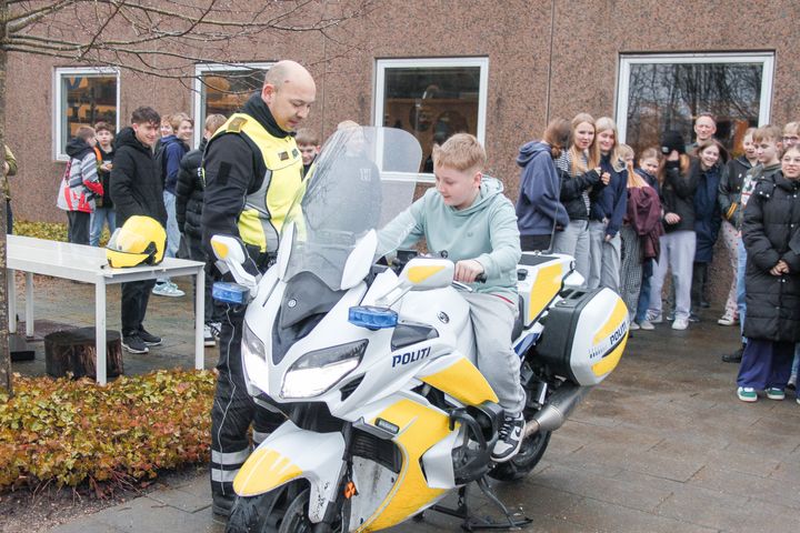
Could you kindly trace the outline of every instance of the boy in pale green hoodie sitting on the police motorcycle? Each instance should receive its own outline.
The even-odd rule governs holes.
[[[518,313],[520,237],[513,204],[502,183],[482,174],[486,151],[467,133],[433,149],[436,189],[430,189],[379,232],[382,255],[424,238],[431,253],[456,262],[456,281],[486,283],[464,292],[474,331],[478,368],[494,390],[504,421],[492,460],[509,461],[522,442],[524,392],[520,359],[511,346]]]

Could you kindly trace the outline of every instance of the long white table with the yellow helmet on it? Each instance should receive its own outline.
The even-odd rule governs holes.
[[[206,276],[203,263],[184,259],[164,259],[157,265],[143,264],[112,269],[106,249],[7,235],[9,332],[17,332],[17,288],[14,272],[26,272],[26,335],[33,336],[33,274],[63,278],[94,284],[94,328],[97,329],[97,382],[106,384],[106,286],[129,281],[154,280],[178,275],[197,279],[194,299],[194,368],[203,368],[203,309]]]

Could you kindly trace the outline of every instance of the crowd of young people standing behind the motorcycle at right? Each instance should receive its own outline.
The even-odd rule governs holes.
[[[748,129],[738,157],[716,132],[702,113],[694,143],[667,131],[636,154],[610,118],[552,120],[517,159],[522,250],[572,255],[588,289],[622,296],[631,330],[686,330],[710,305],[721,233],[732,279],[717,323],[742,334],[722,360],[740,363],[740,400],[783,400],[800,362],[800,122]]]

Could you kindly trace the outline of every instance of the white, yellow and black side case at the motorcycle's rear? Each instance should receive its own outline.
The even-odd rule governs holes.
[[[619,363],[628,325],[628,308],[612,290],[563,291],[544,319],[534,361],[578,385],[597,385]]]

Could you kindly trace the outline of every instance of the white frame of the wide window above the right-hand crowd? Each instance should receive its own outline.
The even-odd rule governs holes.
[[[761,100],[759,124],[768,124],[772,110],[772,81],[774,78],[774,52],[686,52],[686,53],[623,53],[619,59],[617,80],[616,119],[620,142],[628,133],[628,92],[632,64],[653,63],[761,63]]]

